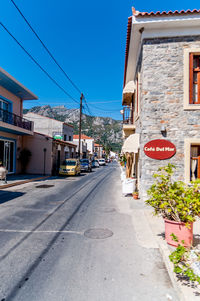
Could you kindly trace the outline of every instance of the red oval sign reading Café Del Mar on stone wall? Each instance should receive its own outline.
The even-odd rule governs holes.
[[[176,147],[168,140],[156,139],[145,144],[144,152],[152,159],[165,160],[175,155]]]

